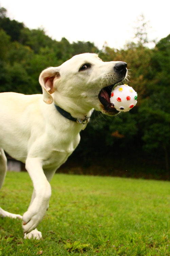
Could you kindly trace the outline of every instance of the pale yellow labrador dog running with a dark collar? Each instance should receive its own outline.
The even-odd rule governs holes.
[[[26,163],[34,190],[28,210],[1,217],[21,218],[24,238],[41,238],[36,229],[49,207],[50,180],[77,147],[93,109],[118,111],[110,102],[114,85],[127,76],[125,62],[103,62],[97,54],[75,55],[39,77],[43,94],[0,93],[0,187],[6,173],[5,150]]]

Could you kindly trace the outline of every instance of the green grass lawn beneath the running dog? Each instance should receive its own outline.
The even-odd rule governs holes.
[[[170,182],[55,174],[41,240],[24,240],[21,220],[0,218],[0,255],[170,256]],[[8,172],[4,210],[23,214],[32,182]]]

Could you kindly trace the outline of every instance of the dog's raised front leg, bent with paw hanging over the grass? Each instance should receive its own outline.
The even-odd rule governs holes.
[[[29,233],[38,226],[46,213],[51,196],[51,186],[43,172],[39,158],[28,157],[26,169],[33,181],[35,193],[28,210],[23,214],[22,227],[24,233]]]

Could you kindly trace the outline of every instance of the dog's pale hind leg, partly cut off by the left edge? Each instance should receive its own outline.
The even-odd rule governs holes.
[[[0,148],[0,189],[3,185],[6,171],[7,171],[7,159],[6,159],[3,149]],[[22,219],[21,215],[4,211],[1,207],[0,207],[0,217],[10,217],[13,219],[16,219],[16,218]]]

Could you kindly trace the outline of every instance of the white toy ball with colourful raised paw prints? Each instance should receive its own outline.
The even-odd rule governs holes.
[[[127,112],[137,103],[137,92],[127,84],[118,85],[111,93],[111,103],[118,111]]]

